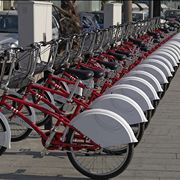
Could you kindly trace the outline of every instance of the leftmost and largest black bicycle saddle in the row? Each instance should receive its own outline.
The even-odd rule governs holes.
[[[90,71],[90,70],[69,68],[69,69],[66,69],[65,71],[67,73],[70,73],[70,74],[78,77],[80,80],[87,80],[94,76],[93,71]]]

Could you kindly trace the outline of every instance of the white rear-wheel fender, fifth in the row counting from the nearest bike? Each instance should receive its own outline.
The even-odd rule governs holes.
[[[140,77],[145,79],[146,81],[148,81],[156,90],[156,92],[163,92],[163,89],[161,87],[161,84],[159,83],[159,81],[157,80],[157,78],[155,76],[153,76],[152,74],[146,72],[146,71],[142,71],[142,70],[131,70],[128,74],[126,74],[126,76],[136,76],[136,77]]]

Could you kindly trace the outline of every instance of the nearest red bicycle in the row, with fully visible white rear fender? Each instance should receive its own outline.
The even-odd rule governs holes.
[[[14,63],[12,63],[11,66],[12,69],[13,69],[13,64]],[[9,75],[11,76],[11,73]],[[7,84],[8,83],[6,83],[6,85]],[[66,151],[67,156],[70,162],[72,163],[72,165],[82,174],[91,177],[93,179],[107,179],[107,178],[115,177],[121,172],[123,172],[130,163],[130,160],[133,155],[133,143],[136,142],[137,140],[134,137],[134,134],[131,128],[129,127],[129,125],[122,118],[120,118],[120,116],[117,116],[117,114],[107,110],[92,109],[80,113],[70,122],[70,120],[66,116],[50,111],[40,106],[39,104],[26,101],[22,98],[9,96],[7,86],[3,86],[3,89],[6,92],[3,93],[1,97],[1,101],[0,101],[1,108],[6,107],[8,110],[11,110],[13,116],[18,116],[19,118],[21,118],[22,121],[25,121],[41,136],[42,144],[45,147],[44,150],[42,151],[42,155],[46,154],[47,150]],[[47,104],[50,104],[50,102],[47,101],[44,97],[40,97],[40,98],[45,102],[47,102]],[[8,100],[11,100],[15,103],[9,104]],[[54,117],[57,120],[55,122],[54,127],[50,131],[43,132],[35,123],[33,123],[30,119],[28,119],[26,115],[20,112],[20,109],[22,109],[23,106],[30,106],[36,108]],[[88,122],[87,119],[90,120],[95,116],[96,116],[96,121],[100,123],[103,127],[105,126],[104,131],[102,131],[102,129],[101,130],[99,129],[100,131],[97,132],[100,134],[101,132],[105,133],[104,134],[105,137],[100,135],[94,137],[95,135],[95,132],[93,132],[94,130],[91,129],[90,131],[87,132],[90,126],[86,125],[84,127],[84,125],[82,124],[84,117],[86,117],[85,118],[86,121],[84,122],[87,123]],[[102,118],[108,118],[108,122],[111,123],[111,126],[109,126],[110,124],[109,123],[107,124],[106,121],[103,121]],[[96,122],[92,121],[92,123],[96,123]],[[96,128],[100,127],[98,124],[94,124],[94,125],[93,127]],[[63,127],[63,130],[60,131],[59,126]],[[117,127],[119,128],[117,129]],[[116,133],[112,133],[112,131],[115,130],[114,128],[116,129]],[[81,129],[81,131],[84,129],[85,134],[88,134],[88,136],[84,135],[84,132],[81,133],[78,129]],[[121,131],[121,135],[119,131]],[[103,139],[99,137],[103,137]],[[106,140],[107,137],[109,140]],[[112,137],[114,138],[113,141],[110,140]],[[95,141],[98,143],[96,143]],[[123,150],[121,155],[120,154],[116,155],[116,153],[113,153],[113,150],[116,149],[115,146],[118,147],[117,144],[119,144],[119,146]],[[110,147],[108,147],[109,145]],[[118,149],[120,149],[120,147],[118,147]],[[100,159],[104,159],[104,158],[106,159],[105,161],[103,161],[102,165],[93,162],[94,160],[98,160],[99,159],[98,157]],[[85,161],[84,164],[82,159],[84,159]],[[88,161],[89,159],[93,159],[91,160],[91,162],[93,162],[93,165],[94,166],[98,165],[101,167],[98,167],[98,169],[96,169],[97,166],[88,167],[86,163],[87,159]],[[111,162],[110,169],[109,168],[107,169],[107,167],[109,167],[108,161]],[[106,169],[103,169],[104,162],[106,162],[107,164]],[[99,172],[99,169],[101,169],[101,172]]]

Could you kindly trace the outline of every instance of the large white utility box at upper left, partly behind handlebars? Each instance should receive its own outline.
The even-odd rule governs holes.
[[[26,47],[34,42],[52,39],[52,3],[46,1],[18,1],[19,46]],[[44,48],[42,48],[42,51]],[[42,54],[48,61],[49,51]],[[29,58],[20,61],[27,68]]]

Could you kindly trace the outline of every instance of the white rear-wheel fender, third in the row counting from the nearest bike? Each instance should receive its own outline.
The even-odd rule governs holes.
[[[125,95],[133,99],[141,107],[143,112],[154,109],[149,97],[141,89],[129,84],[120,84],[113,86],[107,89],[104,94]]]

